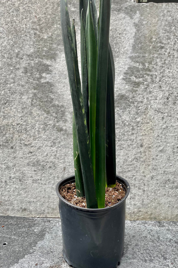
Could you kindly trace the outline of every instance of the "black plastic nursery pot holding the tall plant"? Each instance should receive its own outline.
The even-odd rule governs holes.
[[[120,176],[117,181],[126,192],[123,200],[109,208],[80,208],[63,199],[59,189],[74,182],[67,177],[56,186],[61,216],[63,256],[76,268],[115,268],[124,250],[125,201],[129,183]]]

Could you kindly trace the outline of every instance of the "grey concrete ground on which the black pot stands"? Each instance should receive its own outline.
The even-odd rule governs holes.
[[[177,228],[178,222],[126,221],[119,268],[177,268]],[[0,253],[1,268],[69,267],[59,218],[0,216]]]

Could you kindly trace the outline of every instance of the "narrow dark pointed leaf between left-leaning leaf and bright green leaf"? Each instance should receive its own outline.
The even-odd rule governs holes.
[[[81,52],[81,69],[82,69],[82,96],[85,107],[85,115],[87,120],[88,133],[89,129],[89,105],[88,105],[88,70],[87,70],[87,52],[85,38],[85,24],[83,19],[83,10],[81,12],[80,23],[80,52]]]

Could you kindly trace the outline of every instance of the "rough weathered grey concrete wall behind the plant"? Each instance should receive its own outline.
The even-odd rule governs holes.
[[[68,4],[80,40],[78,1]],[[1,0],[0,10],[0,214],[58,217],[55,185],[74,173],[60,1]],[[178,219],[177,28],[178,4],[112,0],[117,174],[131,185],[130,220]]]

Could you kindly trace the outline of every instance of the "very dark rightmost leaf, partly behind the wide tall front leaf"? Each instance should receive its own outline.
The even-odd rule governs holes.
[[[106,98],[106,177],[108,187],[116,185],[114,84],[115,66],[112,49],[109,44]]]

